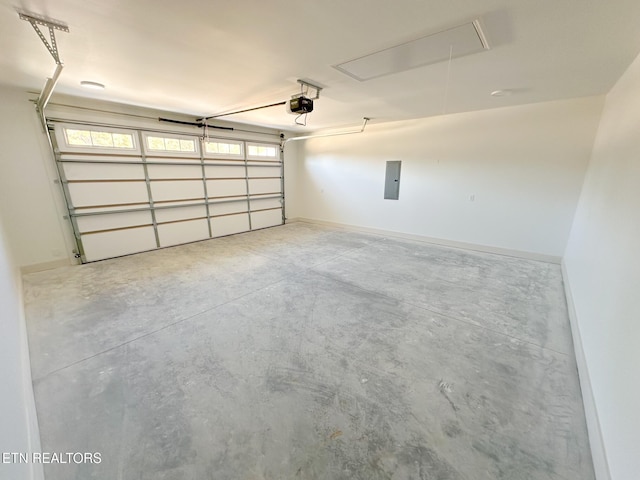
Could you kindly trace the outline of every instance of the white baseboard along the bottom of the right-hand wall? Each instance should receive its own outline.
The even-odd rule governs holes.
[[[562,279],[564,281],[564,291],[567,298],[567,310],[569,313],[569,323],[571,324],[571,335],[573,337],[573,350],[575,352],[576,363],[578,366],[578,376],[580,378],[580,389],[582,391],[582,403],[584,405],[584,414],[587,421],[587,430],[589,432],[589,444],[591,446],[591,458],[593,460],[593,468],[596,473],[597,480],[611,480],[609,463],[607,461],[607,451],[602,438],[602,429],[600,428],[600,419],[598,410],[593,396],[591,387],[591,377],[589,376],[589,368],[587,367],[587,359],[582,348],[582,337],[580,336],[580,327],[578,325],[578,315],[573,295],[571,293],[571,283],[565,262],[561,263]]]

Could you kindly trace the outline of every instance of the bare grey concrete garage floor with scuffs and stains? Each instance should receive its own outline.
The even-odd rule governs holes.
[[[47,480],[594,478],[558,265],[294,223],[25,276]]]

